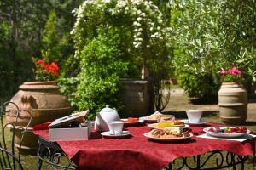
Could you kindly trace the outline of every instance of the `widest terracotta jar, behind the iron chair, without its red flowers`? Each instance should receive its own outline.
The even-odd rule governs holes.
[[[35,153],[37,150],[38,136],[32,133],[32,127],[36,124],[51,122],[56,118],[71,114],[72,108],[67,97],[62,95],[54,81],[49,82],[24,82],[19,87],[19,91],[10,100],[19,106],[20,109],[28,110],[32,113],[32,123],[29,133],[25,135],[22,150]],[[6,115],[7,122],[15,121],[15,108],[8,105],[11,110]],[[18,120],[18,126],[24,126],[28,122],[28,113],[22,112],[22,119]],[[15,145],[20,145],[20,133],[17,133]]]

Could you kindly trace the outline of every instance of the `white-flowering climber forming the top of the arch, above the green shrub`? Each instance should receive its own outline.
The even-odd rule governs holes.
[[[144,57],[146,55],[160,55],[160,49],[167,47],[169,28],[163,24],[162,13],[152,1],[148,0],[85,0],[79,8],[73,10],[77,21],[73,27],[74,41],[76,43],[76,57],[86,43],[96,37],[99,27],[119,26],[125,33],[132,36],[128,38],[132,47],[128,52],[137,51]],[[164,46],[164,47],[163,47]],[[132,49],[134,48],[134,49]],[[148,53],[149,51],[154,54]],[[148,53],[148,54],[145,54]]]

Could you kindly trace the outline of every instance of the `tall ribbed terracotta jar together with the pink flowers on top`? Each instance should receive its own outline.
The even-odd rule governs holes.
[[[218,91],[219,116],[226,124],[241,124],[247,119],[247,90],[243,87],[242,72],[236,68],[223,70]]]

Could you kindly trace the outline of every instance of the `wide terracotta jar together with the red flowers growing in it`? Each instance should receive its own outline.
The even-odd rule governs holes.
[[[31,127],[29,133],[23,139],[21,150],[35,153],[37,150],[38,136],[32,133],[32,127],[36,124],[54,121],[56,118],[71,114],[72,108],[67,97],[61,94],[55,79],[59,77],[59,66],[55,62],[48,64],[48,56],[43,59],[33,59],[35,63],[34,76],[36,82],[24,82],[20,85],[19,91],[10,100],[19,106],[21,110],[28,110],[32,113]],[[10,112],[6,116],[7,122],[15,122],[15,108],[8,105]],[[20,115],[17,126],[23,126],[29,121],[26,112]],[[21,133],[21,131],[20,131]],[[19,132],[16,135],[20,135]],[[17,139],[20,139],[19,137]],[[16,140],[15,145],[19,146],[20,141]]]

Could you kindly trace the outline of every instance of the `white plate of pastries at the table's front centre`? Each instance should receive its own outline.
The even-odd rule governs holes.
[[[144,133],[144,136],[148,139],[155,141],[181,141],[190,139],[193,134],[183,132],[182,127],[168,127],[166,129],[153,129],[148,133]]]

